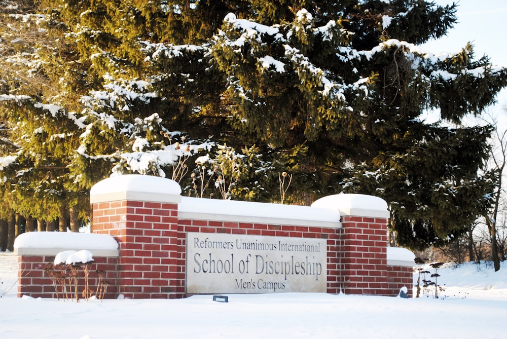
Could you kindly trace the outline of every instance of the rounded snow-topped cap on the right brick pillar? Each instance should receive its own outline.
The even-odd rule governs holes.
[[[341,215],[388,218],[385,200],[364,194],[335,194],[316,200],[312,207],[339,211]]]

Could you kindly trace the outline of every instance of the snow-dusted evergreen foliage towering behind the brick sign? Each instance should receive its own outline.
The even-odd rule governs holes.
[[[196,159],[207,156],[205,174],[216,176],[215,166],[236,157],[238,178],[222,173],[233,178],[229,198],[276,201],[281,171],[294,174],[289,201],[380,196],[398,243],[412,248],[462,234],[491,204],[494,175],[483,168],[492,127],[461,121],[494,101],[507,70],[476,59],[471,45],[439,56],[417,46],[452,28],[455,5],[44,0],[31,8],[44,39],[27,44],[30,61],[40,61],[34,69],[53,92],[31,81],[16,93],[14,80],[3,85],[4,121],[21,126],[10,132],[19,149],[3,150],[15,159],[5,173],[38,170],[23,172],[16,194],[37,192],[47,180],[41,168],[62,166],[51,180],[72,201],[112,173],[172,177],[205,196],[194,188],[205,176]],[[428,109],[442,120],[426,123]],[[69,136],[64,143],[57,131]]]

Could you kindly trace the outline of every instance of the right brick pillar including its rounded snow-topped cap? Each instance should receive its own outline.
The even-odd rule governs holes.
[[[324,197],[315,207],[338,209],[342,230],[340,285],[346,294],[387,294],[387,203],[377,197],[340,194]]]

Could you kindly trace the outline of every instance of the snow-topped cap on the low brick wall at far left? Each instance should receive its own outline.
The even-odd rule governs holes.
[[[17,255],[56,255],[88,250],[95,256],[118,256],[118,242],[110,235],[74,232],[27,232],[14,241]]]

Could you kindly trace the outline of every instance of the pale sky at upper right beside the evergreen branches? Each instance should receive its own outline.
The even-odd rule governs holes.
[[[451,0],[433,0],[438,5],[450,5]],[[431,41],[423,48],[432,52],[455,52],[474,45],[477,58],[487,55],[493,65],[507,67],[507,1],[505,0],[460,0],[457,3],[458,22],[447,36]],[[494,114],[502,113],[507,105],[507,89],[497,96],[498,103],[491,107]],[[503,112],[503,115],[507,115]]]

